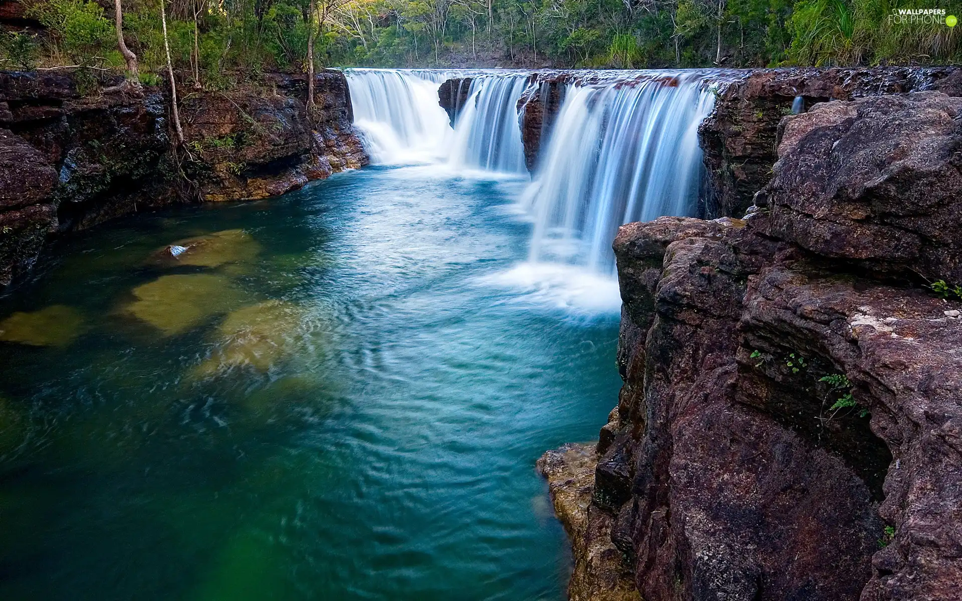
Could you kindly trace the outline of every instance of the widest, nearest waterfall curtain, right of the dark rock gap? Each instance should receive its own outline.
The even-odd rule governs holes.
[[[694,214],[697,128],[715,95],[700,72],[636,72],[570,85],[523,202],[532,263],[611,273],[621,224]]]

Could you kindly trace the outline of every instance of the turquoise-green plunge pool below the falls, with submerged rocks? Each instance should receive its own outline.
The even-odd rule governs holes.
[[[370,168],[56,248],[0,302],[0,598],[563,598],[534,463],[615,405],[618,314],[519,270],[521,185]]]

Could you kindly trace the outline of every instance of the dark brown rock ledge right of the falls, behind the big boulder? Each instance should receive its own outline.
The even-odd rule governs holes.
[[[742,216],[772,176],[778,122],[796,96],[805,109],[827,100],[937,90],[962,96],[958,67],[755,69],[720,79],[715,111],[699,129],[711,194],[707,218]]]

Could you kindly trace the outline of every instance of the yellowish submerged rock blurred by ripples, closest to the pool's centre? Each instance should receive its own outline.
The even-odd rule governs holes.
[[[303,311],[296,305],[276,300],[230,313],[217,327],[218,347],[192,374],[209,377],[245,366],[266,372],[299,348],[302,317]]]

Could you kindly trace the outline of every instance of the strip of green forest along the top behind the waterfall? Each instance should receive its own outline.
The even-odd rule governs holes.
[[[21,0],[37,27],[9,27],[0,68],[123,68],[111,0]],[[906,9],[937,8],[909,22]],[[123,0],[141,80],[164,73],[161,0]],[[175,70],[204,86],[227,73],[320,66],[696,67],[952,63],[962,0],[170,0]],[[896,15],[893,17],[893,15]],[[951,22],[953,19],[949,19]],[[226,82],[223,82],[226,84]]]

